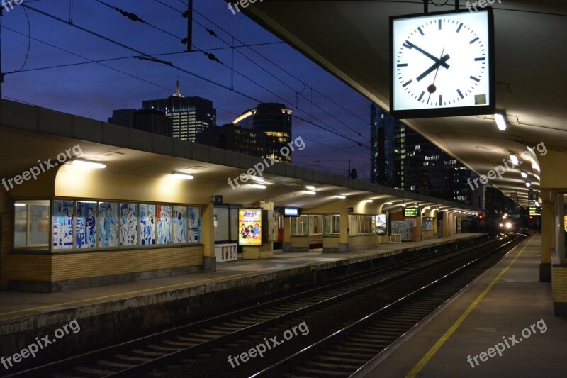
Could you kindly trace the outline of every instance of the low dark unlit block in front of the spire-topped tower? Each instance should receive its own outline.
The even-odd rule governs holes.
[[[108,123],[135,128],[159,135],[172,136],[172,119],[156,109],[118,109],[112,111]]]

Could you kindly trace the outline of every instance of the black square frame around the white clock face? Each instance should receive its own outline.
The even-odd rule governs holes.
[[[456,116],[479,116],[484,114],[494,114],[496,111],[495,98],[495,72],[494,72],[494,13],[492,7],[479,10],[486,11],[488,15],[488,93],[489,102],[483,106],[457,106],[451,108],[435,108],[435,109],[404,109],[396,110],[394,107],[394,46],[393,46],[393,21],[400,18],[418,18],[423,16],[447,16],[450,14],[458,14],[469,12],[468,9],[460,11],[442,11],[431,13],[414,13],[403,16],[390,17],[390,114],[394,118],[432,118],[432,117],[456,117]]]

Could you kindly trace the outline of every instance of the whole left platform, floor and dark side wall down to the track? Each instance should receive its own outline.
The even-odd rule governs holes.
[[[487,238],[483,233],[456,234],[416,243],[381,244],[346,253],[281,252],[266,260],[218,262],[215,272],[140,280],[55,293],[0,291],[0,355],[28,345],[77,320],[81,345],[108,345],[144,331],[174,326],[215,311],[230,311],[246,301],[309,287],[332,277],[347,277],[403,254],[464,245]],[[63,340],[63,339],[62,339]]]

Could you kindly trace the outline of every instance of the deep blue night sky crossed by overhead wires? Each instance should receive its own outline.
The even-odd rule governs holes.
[[[179,76],[181,94],[213,101],[218,125],[256,106],[257,99],[284,103],[294,115],[334,129],[350,140],[294,117],[293,137],[301,136],[306,148],[294,152],[293,164],[346,176],[350,159],[358,178],[369,179],[370,101],[247,16],[233,15],[225,1],[193,2],[193,48],[212,52],[221,63],[200,51],[184,53],[186,45],[180,38],[186,36],[187,21],[181,16],[186,1],[103,2],[133,12],[146,23],[130,21],[97,0],[23,0],[64,22],[31,9],[24,11],[23,6],[4,10],[0,18],[1,71],[6,74],[2,97],[106,121],[113,109],[139,109],[142,100],[173,94]],[[163,63],[140,60],[137,52],[75,28],[69,21],[228,89]],[[233,52],[227,48],[233,37],[234,45],[264,44],[253,49],[268,60],[250,48],[234,49],[242,55]],[[61,65],[66,66],[54,67]]]

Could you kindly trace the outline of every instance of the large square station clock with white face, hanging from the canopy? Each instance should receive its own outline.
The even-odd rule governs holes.
[[[495,112],[492,9],[390,18],[395,118]]]

